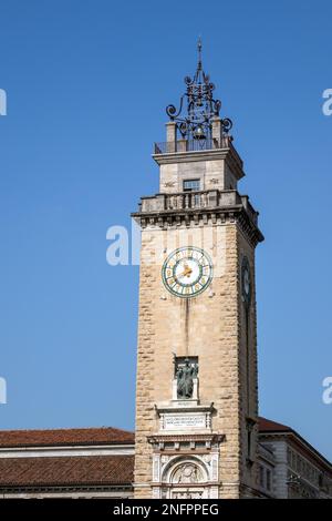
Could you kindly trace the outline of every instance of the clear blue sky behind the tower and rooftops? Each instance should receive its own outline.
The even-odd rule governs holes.
[[[260,412],[332,457],[330,1],[0,0],[0,428],[134,427],[137,267],[108,226],[157,192],[154,141],[196,65],[260,211]]]

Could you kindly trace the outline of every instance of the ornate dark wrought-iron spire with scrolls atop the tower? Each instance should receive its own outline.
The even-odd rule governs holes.
[[[201,40],[197,42],[198,62],[194,78],[186,76],[186,92],[180,98],[179,109],[174,105],[166,108],[166,113],[172,121],[177,122],[177,127],[183,137],[188,140],[205,140],[211,137],[211,120],[219,116],[221,101],[214,99],[215,85],[209,75],[204,72],[201,63]],[[186,103],[187,108],[184,108]],[[184,109],[184,114],[183,114]],[[228,133],[232,126],[226,118],[221,120],[224,133]]]

